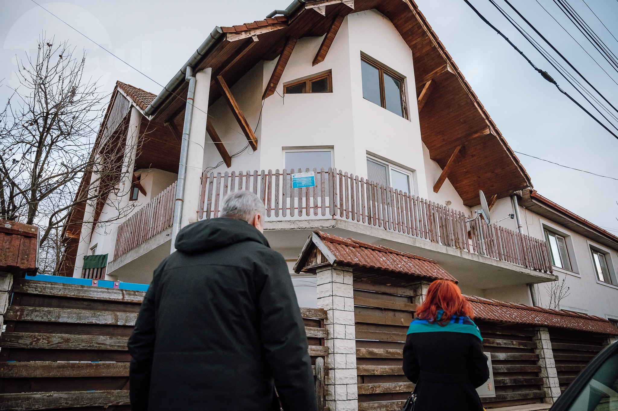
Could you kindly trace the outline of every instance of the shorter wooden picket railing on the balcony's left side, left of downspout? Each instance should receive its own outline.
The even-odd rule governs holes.
[[[172,226],[176,181],[118,226],[114,259]]]

